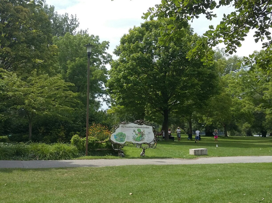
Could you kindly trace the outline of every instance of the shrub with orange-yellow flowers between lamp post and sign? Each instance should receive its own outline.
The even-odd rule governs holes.
[[[89,127],[89,136],[97,138],[98,141],[104,141],[105,139],[109,138],[110,131],[104,125],[92,123],[92,125]]]

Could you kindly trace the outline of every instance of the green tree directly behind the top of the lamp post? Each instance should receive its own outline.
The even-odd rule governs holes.
[[[94,45],[90,64],[90,104],[92,108],[99,109],[100,100],[105,98],[104,84],[107,81],[106,64],[112,60],[107,53],[109,42],[99,42],[98,36],[89,36],[86,33],[71,35],[66,33],[63,37],[54,37],[54,44],[58,47],[58,65],[65,81],[75,84],[70,90],[78,93],[78,99],[86,103],[87,90],[87,53],[84,45]]]

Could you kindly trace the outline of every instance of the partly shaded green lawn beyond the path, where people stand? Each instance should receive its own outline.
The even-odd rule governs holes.
[[[207,148],[208,156],[272,156],[272,137],[219,137],[214,142],[213,137],[201,137],[199,143],[186,139],[182,135],[181,141],[158,141],[155,149],[147,149],[144,158],[196,158],[189,155],[189,149]],[[176,138],[175,138],[176,139]],[[216,147],[216,144],[218,147]],[[140,158],[141,149],[128,145],[124,147],[125,158]],[[116,156],[88,156],[81,159],[120,158]]]

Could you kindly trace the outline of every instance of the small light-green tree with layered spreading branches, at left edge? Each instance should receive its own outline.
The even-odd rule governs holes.
[[[1,118],[20,117],[29,122],[29,139],[32,123],[37,115],[66,116],[77,102],[76,94],[69,91],[72,83],[66,83],[58,76],[37,75],[26,81],[16,74],[0,69]]]

